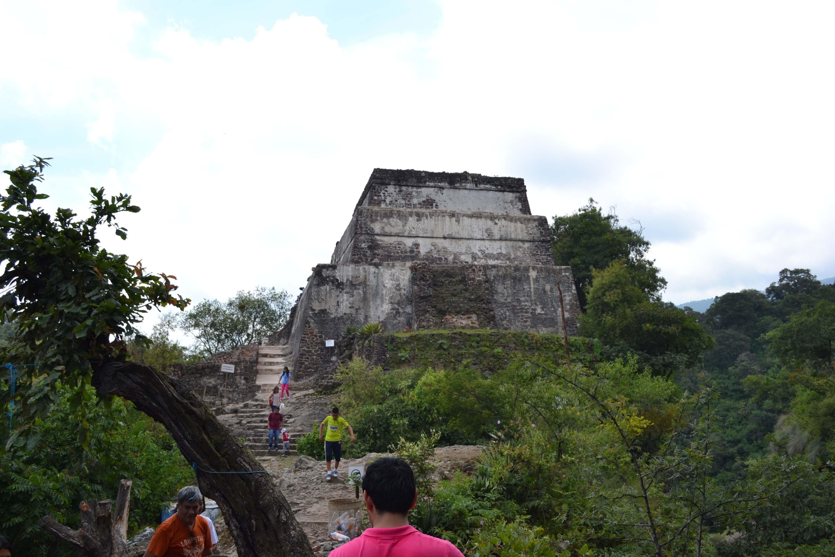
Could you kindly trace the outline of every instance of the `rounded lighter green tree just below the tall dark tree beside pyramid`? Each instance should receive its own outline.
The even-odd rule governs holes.
[[[635,284],[635,271],[623,260],[595,269],[581,332],[623,357],[633,352],[644,366],[670,376],[692,367],[713,347],[696,317],[670,303],[654,301]]]

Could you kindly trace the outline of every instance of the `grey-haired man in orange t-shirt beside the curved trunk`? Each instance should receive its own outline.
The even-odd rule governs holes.
[[[211,554],[209,523],[200,516],[203,495],[190,485],[177,494],[177,512],[159,524],[144,557],[205,557]]]

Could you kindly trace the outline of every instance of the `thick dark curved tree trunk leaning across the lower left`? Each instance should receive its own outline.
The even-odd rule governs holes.
[[[94,366],[100,394],[126,398],[171,433],[215,499],[240,557],[312,556],[311,544],[269,473],[194,392],[135,362]],[[259,473],[260,472],[260,473]]]

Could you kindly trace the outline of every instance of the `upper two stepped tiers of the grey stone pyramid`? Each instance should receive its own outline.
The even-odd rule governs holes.
[[[524,180],[375,169],[331,264],[553,265]]]

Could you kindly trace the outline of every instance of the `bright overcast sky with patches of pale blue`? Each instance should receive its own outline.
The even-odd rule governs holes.
[[[176,4],[172,6],[170,4]],[[375,167],[640,220],[681,303],[835,275],[835,3],[0,0],[0,164],[126,192],[109,249],[295,294]]]

